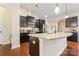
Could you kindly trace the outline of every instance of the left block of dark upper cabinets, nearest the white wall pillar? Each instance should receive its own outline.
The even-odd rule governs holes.
[[[34,27],[34,17],[20,16],[20,27]]]

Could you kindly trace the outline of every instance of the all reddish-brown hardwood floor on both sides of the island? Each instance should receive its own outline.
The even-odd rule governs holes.
[[[67,44],[68,47],[61,56],[79,56],[79,42],[68,41]],[[29,56],[29,43],[22,43],[20,48],[12,49],[7,53],[1,52],[0,50],[0,56]]]

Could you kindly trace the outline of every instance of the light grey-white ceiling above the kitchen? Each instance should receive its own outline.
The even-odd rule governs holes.
[[[60,8],[60,12],[56,14],[54,12],[54,9],[56,7],[56,3],[23,3],[21,4],[25,8],[30,8],[31,13],[42,18],[42,19],[52,19],[52,18],[58,18],[61,16],[65,16],[66,9],[65,9],[65,3],[58,3],[58,6]],[[35,5],[38,5],[35,7]],[[67,3],[67,13],[74,14],[79,12],[79,3]],[[44,15],[47,15],[47,17],[44,17]]]

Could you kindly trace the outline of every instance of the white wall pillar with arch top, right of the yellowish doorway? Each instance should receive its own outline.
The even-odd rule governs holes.
[[[12,49],[20,47],[19,4],[0,4],[11,12]]]

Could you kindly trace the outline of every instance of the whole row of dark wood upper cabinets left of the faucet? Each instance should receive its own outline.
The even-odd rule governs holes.
[[[20,16],[20,27],[36,27],[39,28],[39,32],[43,32],[43,24],[45,24],[45,20],[37,19],[32,16]]]

